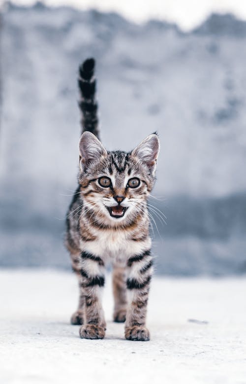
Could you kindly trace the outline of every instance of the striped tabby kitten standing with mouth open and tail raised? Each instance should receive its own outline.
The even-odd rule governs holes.
[[[83,134],[78,188],[67,214],[66,247],[79,279],[79,305],[71,317],[80,336],[102,339],[105,264],[113,266],[114,321],[125,321],[127,340],[150,340],[147,302],[153,273],[147,198],[159,152],[156,134],[133,151],[107,151],[98,140],[94,59],[79,68]]]

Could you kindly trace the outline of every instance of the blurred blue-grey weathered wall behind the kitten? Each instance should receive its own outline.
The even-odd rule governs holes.
[[[97,60],[102,142],[158,131],[150,204],[156,273],[246,273],[246,21],[211,14],[184,31],[114,12],[7,2],[0,14],[0,266],[70,268],[77,69]],[[156,228],[157,226],[157,228]]]

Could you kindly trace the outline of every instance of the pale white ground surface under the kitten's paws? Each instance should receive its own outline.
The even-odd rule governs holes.
[[[123,339],[107,281],[106,338],[91,341],[68,322],[72,274],[1,271],[0,383],[246,383],[246,279],[155,278],[150,342]]]

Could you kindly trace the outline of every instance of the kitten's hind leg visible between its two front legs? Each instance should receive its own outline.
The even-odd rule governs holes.
[[[113,269],[113,294],[115,300],[114,321],[123,323],[126,316],[126,272],[124,268]]]

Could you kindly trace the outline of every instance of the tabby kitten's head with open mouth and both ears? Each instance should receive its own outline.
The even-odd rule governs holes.
[[[80,190],[94,220],[117,226],[143,216],[155,181],[157,135],[147,136],[131,152],[109,152],[92,133],[84,132],[79,151]]]

